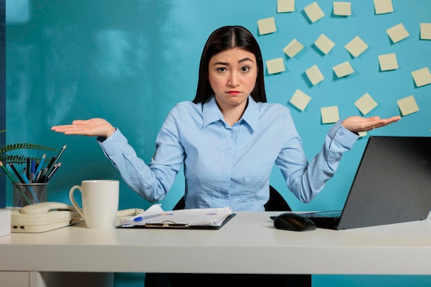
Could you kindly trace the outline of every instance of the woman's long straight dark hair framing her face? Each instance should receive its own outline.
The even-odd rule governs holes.
[[[242,26],[224,26],[218,28],[209,36],[202,51],[202,56],[200,56],[198,88],[196,89],[193,103],[203,104],[214,94],[208,80],[208,66],[211,57],[234,47],[239,47],[255,55],[257,78],[251,96],[256,102],[266,103],[262,53],[253,34]]]

